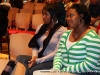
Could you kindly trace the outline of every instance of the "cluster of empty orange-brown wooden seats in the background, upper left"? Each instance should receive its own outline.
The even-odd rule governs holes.
[[[25,3],[25,5],[23,6],[23,9],[19,10],[18,8],[15,8],[15,7],[11,8],[11,10],[8,13],[8,19],[9,19],[8,27],[14,26],[15,24],[16,24],[16,27],[19,27],[18,26],[19,21],[22,21],[22,22],[27,21],[26,23],[23,23],[23,24],[30,24],[31,21],[33,21],[33,18],[34,18],[33,15],[35,16],[35,14],[36,15],[39,14],[39,16],[35,17],[36,20],[38,19],[38,21],[40,21],[40,23],[43,23],[41,13],[42,13],[42,8],[45,5],[45,3],[43,3],[43,4],[42,3],[36,3],[36,4],[33,5],[34,9],[37,10],[36,12],[38,12],[38,13],[35,13],[35,14],[33,14],[34,9],[32,9],[32,5],[33,5],[33,3],[28,2],[28,3]],[[26,14],[26,16],[24,16],[25,14]],[[32,17],[32,20],[31,20],[31,17]],[[18,20],[18,19],[20,19],[20,20]],[[35,22],[35,19],[34,19],[34,22]],[[38,24],[39,24],[39,22],[38,22]],[[33,25],[33,22],[32,22],[32,25]],[[34,27],[34,26],[32,26],[32,27]],[[33,28],[33,29],[36,29],[36,28]]]

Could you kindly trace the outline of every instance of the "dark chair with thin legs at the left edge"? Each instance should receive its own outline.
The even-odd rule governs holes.
[[[8,45],[8,54],[9,54],[9,33],[8,31],[5,33],[5,35],[0,39],[0,48],[2,53],[2,43],[7,43]]]

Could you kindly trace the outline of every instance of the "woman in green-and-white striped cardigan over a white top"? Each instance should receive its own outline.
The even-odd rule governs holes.
[[[60,39],[53,70],[66,75],[100,75],[100,37],[89,27],[90,21],[85,5],[73,4],[67,10],[67,23],[72,30]]]

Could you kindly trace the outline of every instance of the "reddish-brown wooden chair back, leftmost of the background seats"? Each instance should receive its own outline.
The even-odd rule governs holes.
[[[13,7],[9,10],[9,12],[8,12],[8,19],[9,19],[8,28],[11,28],[12,25],[14,26],[15,16],[16,16],[16,13],[18,13],[18,12],[19,12],[19,9],[16,7]]]

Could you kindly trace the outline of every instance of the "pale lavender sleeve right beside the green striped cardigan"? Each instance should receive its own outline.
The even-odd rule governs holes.
[[[66,30],[67,30],[67,28],[64,28],[64,29],[63,29],[63,31],[62,31],[60,37],[62,36],[62,34],[63,34]],[[59,40],[60,40],[60,38],[59,38]],[[59,41],[58,41],[57,43],[59,44]],[[46,55],[46,56],[44,56],[44,57],[42,57],[42,58],[37,58],[37,59],[36,59],[37,64],[38,64],[38,63],[42,63],[42,62],[46,62],[46,61],[52,60],[52,59],[54,58],[54,56],[55,56],[57,50],[58,50],[58,44],[57,44],[55,50],[54,50],[52,53],[50,53],[50,54],[48,54],[48,55]]]

